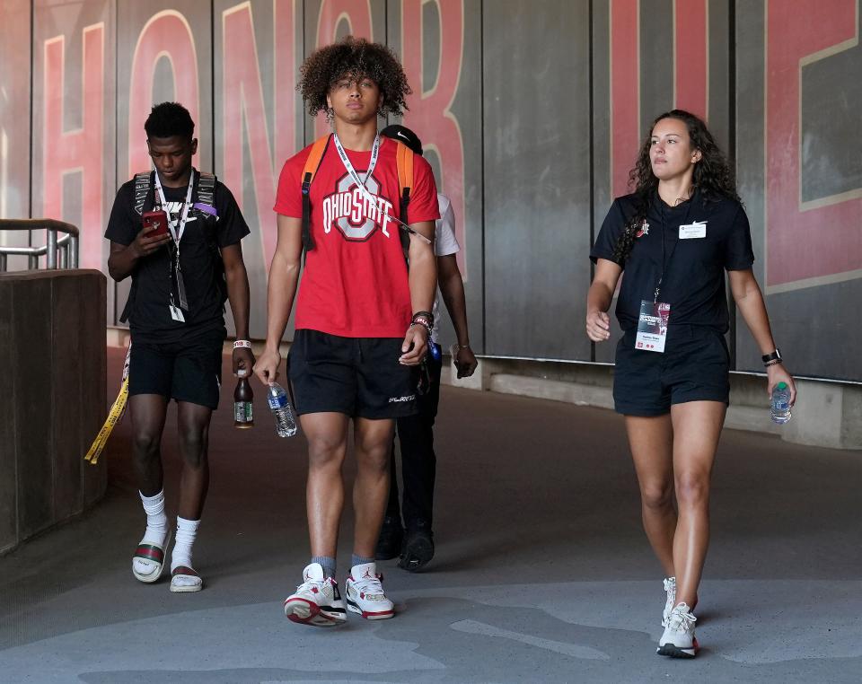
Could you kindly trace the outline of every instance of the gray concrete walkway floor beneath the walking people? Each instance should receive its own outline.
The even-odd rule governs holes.
[[[119,364],[111,351],[111,378]],[[262,392],[258,425],[234,430],[225,378],[195,548],[205,591],[130,573],[145,523],[126,420],[104,502],[0,558],[0,681],[862,681],[859,452],[725,431],[702,651],[673,661],[655,655],[662,574],[622,419],[444,388],[435,559],[423,574],[382,564],[396,618],[323,630],[282,612],[308,558],[303,438],[277,438]],[[175,425],[163,449],[173,512]],[[341,577],[349,513],[342,529]]]

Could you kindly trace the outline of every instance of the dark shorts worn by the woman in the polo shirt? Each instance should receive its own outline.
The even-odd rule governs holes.
[[[617,344],[613,403],[626,416],[662,416],[672,404],[722,401],[730,396],[725,336],[702,326],[671,326],[664,353],[635,348],[637,331]]]

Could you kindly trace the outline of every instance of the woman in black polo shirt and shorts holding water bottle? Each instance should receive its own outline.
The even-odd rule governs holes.
[[[752,274],[734,174],[703,121],[682,110],[656,118],[630,180],[637,189],[614,200],[590,254],[586,334],[594,342],[611,337],[606,311],[625,270],[613,399],[626,417],[647,538],[666,575],[658,653],[693,657],[709,477],[729,394],[725,271],[764,355],[767,391],[787,382],[792,403],[796,388]]]

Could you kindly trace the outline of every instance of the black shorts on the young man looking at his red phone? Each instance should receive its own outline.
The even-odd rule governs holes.
[[[128,364],[128,394],[160,394],[167,399],[218,408],[222,382],[224,329],[171,344],[135,341]]]

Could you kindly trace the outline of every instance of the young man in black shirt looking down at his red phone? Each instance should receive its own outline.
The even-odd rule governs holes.
[[[138,174],[117,193],[105,237],[108,270],[132,277],[126,311],[132,344],[128,408],[133,456],[146,531],[132,558],[136,579],[159,579],[170,530],[164,513],[160,452],[168,402],[177,401],[182,476],[177,534],[171,557],[171,591],[197,592],[203,582],[192,566],[192,545],[209,485],[207,435],[218,407],[224,329],[229,298],[237,342],[233,373],[251,373],[249,279],[240,241],[249,227],[230,190],[191,165],[198,140],[189,111],[175,102],[156,105],[145,131],[155,171]],[[170,231],[154,237],[142,214],[163,209]]]

